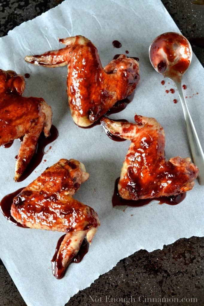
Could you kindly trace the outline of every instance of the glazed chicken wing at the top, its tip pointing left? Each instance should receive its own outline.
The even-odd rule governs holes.
[[[68,65],[67,95],[74,122],[92,125],[118,100],[130,95],[139,81],[138,62],[120,55],[103,69],[96,47],[84,36],[59,39],[67,45],[25,61],[46,67]]]

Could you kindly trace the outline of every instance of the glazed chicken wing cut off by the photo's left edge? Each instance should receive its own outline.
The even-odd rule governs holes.
[[[21,136],[15,180],[23,174],[35,153],[43,131],[49,136],[52,124],[51,107],[42,98],[22,97],[24,77],[12,70],[0,69],[0,146]]]

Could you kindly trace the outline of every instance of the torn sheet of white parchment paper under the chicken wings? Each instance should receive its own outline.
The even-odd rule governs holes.
[[[187,133],[178,93],[165,94],[175,88],[168,79],[152,68],[148,58],[151,41],[168,31],[179,32],[159,0],[130,1],[65,1],[34,20],[27,21],[0,39],[0,68],[17,73],[30,73],[24,96],[43,97],[53,110],[53,124],[59,137],[44,156],[46,162],[23,182],[15,183],[14,157],[20,143],[0,148],[0,197],[28,185],[47,166],[60,158],[83,162],[90,173],[75,197],[93,207],[101,226],[88,254],[81,263],[71,264],[64,278],[52,275],[50,260],[61,233],[22,229],[10,224],[0,214],[0,257],[29,306],[63,306],[78,290],[89,286],[100,274],[109,271],[122,258],[139,249],[153,251],[181,237],[204,235],[202,227],[204,188],[197,181],[186,199],[176,206],[152,202],[145,207],[112,208],[114,182],[130,145],[129,141],[109,139],[101,126],[80,129],[72,121],[66,96],[67,68],[47,69],[28,65],[25,55],[41,54],[63,47],[58,37],[77,34],[88,37],[98,48],[103,65],[115,54],[139,58],[141,80],[134,100],[123,112],[111,118],[134,121],[134,113],[155,117],[166,134],[166,158],[190,156]],[[122,43],[120,49],[113,40]],[[185,95],[201,144],[204,144],[202,65],[193,55],[191,67],[184,76]],[[169,82],[169,83],[168,83]],[[198,94],[196,94],[198,92]],[[190,98],[191,96],[191,98]]]

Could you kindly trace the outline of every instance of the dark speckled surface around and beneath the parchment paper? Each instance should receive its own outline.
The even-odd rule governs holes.
[[[2,0],[0,36],[6,35],[9,30],[23,21],[32,19],[61,2],[60,0]],[[202,3],[202,0],[162,0],[162,2],[187,39],[204,36],[204,5],[192,3]],[[203,49],[192,47],[204,65]],[[164,246],[163,250],[151,253],[140,250],[121,260],[89,288],[79,291],[66,306],[128,304],[203,306],[203,266],[204,237],[179,239],[171,245]],[[160,302],[159,299],[162,297],[166,300]],[[128,298],[130,300],[127,300]],[[182,298],[185,300],[182,301]],[[0,306],[26,306],[1,260]]]

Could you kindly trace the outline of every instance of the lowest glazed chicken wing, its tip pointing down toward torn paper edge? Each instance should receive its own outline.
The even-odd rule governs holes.
[[[72,197],[89,178],[85,171],[75,159],[60,159],[25,187],[11,206],[13,218],[25,226],[66,233],[55,259],[57,278],[63,276],[83,239],[91,243],[100,225],[93,208]]]

